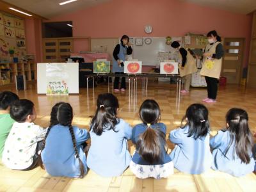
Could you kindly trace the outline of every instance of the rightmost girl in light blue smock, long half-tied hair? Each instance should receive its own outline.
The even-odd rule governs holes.
[[[214,170],[236,177],[253,172],[255,161],[253,138],[248,125],[248,114],[243,109],[232,108],[226,115],[227,129],[211,138]]]

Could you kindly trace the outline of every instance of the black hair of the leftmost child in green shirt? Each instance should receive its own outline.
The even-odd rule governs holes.
[[[10,107],[15,100],[19,100],[18,95],[13,92],[1,92],[0,93],[0,109],[6,110]]]

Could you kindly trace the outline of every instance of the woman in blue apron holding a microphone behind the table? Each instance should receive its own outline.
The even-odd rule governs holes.
[[[113,51],[113,72],[115,74],[124,74],[124,61],[127,54],[132,54],[132,47],[129,43],[129,36],[123,35],[121,43],[117,44]],[[115,77],[114,91],[119,92],[119,77]],[[125,91],[125,77],[121,80],[121,91]]]

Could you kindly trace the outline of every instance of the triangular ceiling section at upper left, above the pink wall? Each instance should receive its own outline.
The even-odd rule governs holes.
[[[45,18],[51,18],[57,15],[62,15],[68,12],[74,12],[95,6],[100,3],[105,3],[111,0],[77,0],[72,3],[63,4],[59,3],[67,0],[3,0],[6,3],[13,4],[29,12],[36,13]],[[256,1],[256,0],[255,0]]]

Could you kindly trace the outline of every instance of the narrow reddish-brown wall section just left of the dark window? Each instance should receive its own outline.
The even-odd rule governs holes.
[[[35,55],[35,62],[42,61],[42,20],[25,19],[26,51]]]

